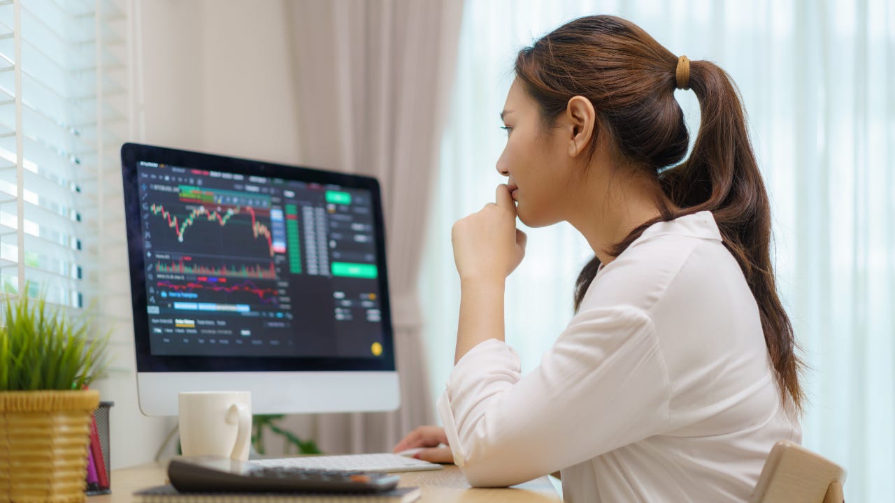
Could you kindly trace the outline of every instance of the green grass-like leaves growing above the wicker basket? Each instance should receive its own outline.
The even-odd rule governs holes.
[[[105,371],[108,334],[90,337],[87,315],[67,316],[43,296],[0,303],[0,391],[83,389]]]

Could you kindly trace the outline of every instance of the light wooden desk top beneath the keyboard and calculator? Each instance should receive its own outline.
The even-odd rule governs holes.
[[[121,468],[112,471],[112,494],[90,496],[87,503],[131,503],[132,492],[146,487],[161,485],[166,480],[167,463],[147,463],[132,468]],[[419,486],[422,489],[422,501],[453,502],[512,502],[526,501],[533,503],[557,503],[560,501],[550,480],[545,477],[535,479],[504,489],[471,488],[460,469],[455,465],[446,465],[443,470],[428,472],[404,472],[400,486]]]

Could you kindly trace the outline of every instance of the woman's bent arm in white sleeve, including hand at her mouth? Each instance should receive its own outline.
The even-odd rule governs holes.
[[[506,486],[581,463],[659,431],[669,381],[655,328],[633,306],[579,313],[523,379],[504,344],[504,284],[525,234],[506,185],[451,233],[462,298],[454,371],[439,414],[474,486]],[[493,340],[492,340],[493,339]]]

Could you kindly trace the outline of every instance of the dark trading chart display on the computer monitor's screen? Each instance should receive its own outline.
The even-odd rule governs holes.
[[[156,355],[379,357],[371,192],[138,161]]]

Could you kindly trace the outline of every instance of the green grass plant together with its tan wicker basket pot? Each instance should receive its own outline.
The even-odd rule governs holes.
[[[0,303],[0,501],[84,501],[99,404],[86,388],[104,367],[108,337],[42,296]]]

